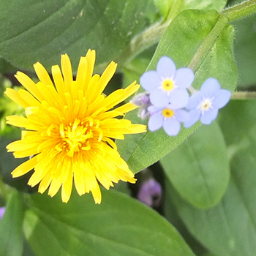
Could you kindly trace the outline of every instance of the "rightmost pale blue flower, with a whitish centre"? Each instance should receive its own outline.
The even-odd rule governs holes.
[[[218,80],[208,78],[201,87],[189,99],[187,109],[189,110],[189,120],[184,123],[184,127],[191,127],[199,119],[202,124],[211,124],[217,118],[219,108],[223,108],[229,102],[231,92],[221,89]]]

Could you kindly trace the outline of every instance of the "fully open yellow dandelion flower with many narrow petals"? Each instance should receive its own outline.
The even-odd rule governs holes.
[[[61,69],[57,65],[52,67],[54,83],[37,62],[34,69],[38,83],[17,72],[15,77],[26,90],[5,91],[26,114],[26,117],[7,116],[7,124],[24,128],[21,140],[10,143],[7,150],[18,158],[32,156],[12,171],[12,177],[34,170],[28,184],[31,187],[39,184],[40,193],[49,188],[51,197],[61,187],[65,203],[71,195],[73,180],[78,194],[91,192],[95,203],[102,200],[98,182],[106,189],[119,180],[135,183],[113,139],[123,140],[124,134],[146,131],[144,125],[116,118],[137,108],[135,105],[127,103],[113,109],[138,91],[139,85],[134,82],[105,96],[102,92],[117,65],[112,61],[99,76],[93,75],[94,62],[95,50],[89,50],[80,58],[78,74],[73,80],[69,57],[62,55]]]

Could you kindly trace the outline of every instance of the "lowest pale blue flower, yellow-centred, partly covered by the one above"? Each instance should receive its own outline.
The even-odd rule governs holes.
[[[188,113],[184,109],[174,109],[170,105],[164,108],[156,108],[154,105],[148,107],[151,116],[148,120],[148,129],[151,132],[161,127],[167,135],[176,136],[181,129],[181,122],[188,121]]]

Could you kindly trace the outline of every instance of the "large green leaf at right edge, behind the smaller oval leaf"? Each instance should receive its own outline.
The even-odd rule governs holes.
[[[199,210],[176,195],[178,213],[190,232],[218,256],[256,252],[256,101],[233,101],[220,124],[230,152],[230,184],[214,208]],[[173,197],[176,192],[171,192]]]

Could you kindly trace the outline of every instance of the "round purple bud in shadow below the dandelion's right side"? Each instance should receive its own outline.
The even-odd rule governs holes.
[[[154,178],[143,182],[138,192],[138,200],[140,200],[140,202],[150,207],[157,207],[161,202],[161,198],[162,187]]]

